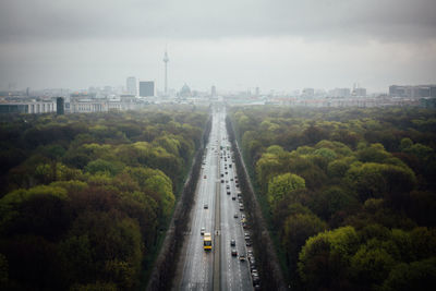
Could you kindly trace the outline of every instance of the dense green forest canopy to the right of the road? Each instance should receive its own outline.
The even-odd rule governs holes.
[[[295,290],[436,284],[436,112],[232,108]]]

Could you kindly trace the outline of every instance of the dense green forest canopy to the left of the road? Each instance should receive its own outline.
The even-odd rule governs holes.
[[[0,120],[0,289],[140,286],[208,119],[155,109]]]

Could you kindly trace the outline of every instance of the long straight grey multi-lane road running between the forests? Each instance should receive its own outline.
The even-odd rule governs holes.
[[[235,248],[238,255],[246,256],[247,246],[223,110],[213,112],[209,143],[186,233],[181,290],[253,290],[247,260],[240,260],[231,253]],[[203,248],[202,228],[213,234],[211,251]],[[230,245],[231,240],[235,240],[235,246]]]

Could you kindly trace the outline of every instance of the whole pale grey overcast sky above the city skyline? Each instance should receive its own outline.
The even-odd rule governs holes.
[[[436,0],[0,0],[0,88],[436,83]]]

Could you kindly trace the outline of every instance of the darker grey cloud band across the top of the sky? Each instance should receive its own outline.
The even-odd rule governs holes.
[[[434,0],[2,0],[0,41],[296,36],[436,38]]]

